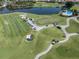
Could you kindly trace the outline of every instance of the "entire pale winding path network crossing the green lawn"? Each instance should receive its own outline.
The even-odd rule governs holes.
[[[77,16],[77,17],[79,17],[79,16]],[[75,22],[79,23],[79,21],[77,20],[77,17],[70,17],[70,18],[67,18],[67,21],[66,21],[67,24],[66,24],[66,25],[57,25],[57,26],[61,27],[61,30],[63,31],[63,33],[64,33],[64,35],[65,35],[64,40],[59,41],[57,44],[65,43],[65,42],[67,42],[67,41],[69,40],[69,38],[70,38],[71,36],[79,35],[78,33],[68,33],[68,32],[66,31],[66,28],[68,28],[68,27],[70,26],[70,20],[74,20]],[[22,18],[25,18],[25,17],[22,17]],[[46,29],[46,28],[49,28],[49,27],[54,27],[53,24],[49,24],[48,26],[38,26],[38,25],[35,24],[32,20],[29,20],[29,19],[27,20],[27,22],[28,22],[32,27],[36,28],[36,31],[40,31],[40,30],[42,30],[42,29]],[[48,46],[48,48],[47,48],[45,51],[43,51],[43,52],[37,54],[34,59],[40,59],[41,56],[47,54],[47,53],[53,48],[53,46],[54,46],[54,45],[50,44],[50,45]]]

